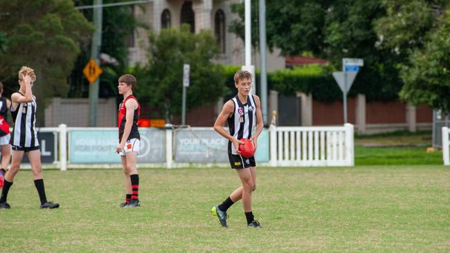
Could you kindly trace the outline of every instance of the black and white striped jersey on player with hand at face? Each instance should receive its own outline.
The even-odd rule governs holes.
[[[35,96],[33,96],[33,102],[19,103],[16,109],[13,109],[11,106],[11,115],[14,127],[11,133],[10,144],[19,147],[38,147],[39,141],[37,140],[37,131],[35,129]]]

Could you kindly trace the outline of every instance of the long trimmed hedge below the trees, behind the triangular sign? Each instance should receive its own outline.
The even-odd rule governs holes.
[[[236,93],[233,76],[240,70],[239,66],[224,66],[226,72],[226,86],[230,93],[224,95],[226,99]],[[312,94],[314,100],[334,102],[342,99],[342,92],[334,81],[331,66],[310,64],[295,68],[283,69],[267,73],[267,86],[269,90],[278,91],[279,95],[295,95],[300,91]],[[256,83],[260,84],[260,72],[256,71]],[[257,94],[259,85],[257,85]],[[401,88],[399,80],[384,80],[378,73],[370,69],[361,69],[358,73],[349,96],[365,94],[367,100],[397,100]]]

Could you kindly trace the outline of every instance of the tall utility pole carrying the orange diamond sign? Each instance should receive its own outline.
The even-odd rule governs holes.
[[[98,55],[102,46],[102,2],[103,0],[93,0],[93,25],[96,30],[93,32],[91,45],[91,58],[96,64],[100,66]],[[97,108],[98,108],[98,89],[100,86],[100,79],[97,78],[95,82],[89,84],[89,127],[97,127]]]

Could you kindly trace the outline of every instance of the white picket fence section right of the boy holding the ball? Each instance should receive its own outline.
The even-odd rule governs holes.
[[[274,127],[270,165],[354,166],[354,127]]]

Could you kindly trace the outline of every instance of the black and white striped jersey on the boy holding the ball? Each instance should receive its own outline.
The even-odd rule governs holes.
[[[253,95],[247,96],[246,104],[242,104],[237,95],[231,99],[235,105],[233,115],[228,118],[228,128],[233,138],[250,139],[256,127],[256,104]],[[232,142],[228,142],[228,153],[237,154]]]

